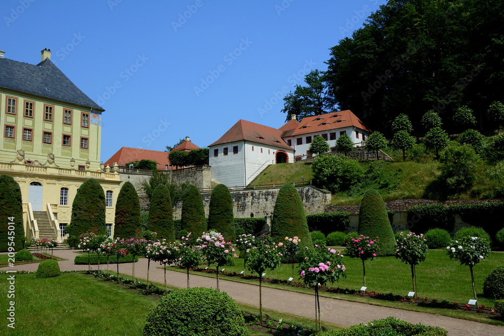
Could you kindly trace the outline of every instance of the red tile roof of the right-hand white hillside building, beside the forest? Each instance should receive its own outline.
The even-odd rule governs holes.
[[[304,117],[300,122],[298,122],[297,128],[294,130],[291,130],[293,125],[292,121],[293,120],[290,120],[280,127],[280,129],[285,127],[284,132],[288,134],[283,135],[283,137],[298,136],[307,133],[329,131],[331,129],[352,126],[371,132],[371,129],[360,121],[360,119],[357,118],[357,116],[350,110]],[[289,123],[291,123],[291,125],[289,125]]]

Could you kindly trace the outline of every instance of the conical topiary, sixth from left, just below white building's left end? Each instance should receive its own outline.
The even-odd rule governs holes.
[[[236,240],[234,227],[233,197],[224,184],[217,185],[210,195],[208,230],[220,232],[224,239]]]

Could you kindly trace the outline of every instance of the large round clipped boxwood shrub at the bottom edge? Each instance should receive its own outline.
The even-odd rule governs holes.
[[[224,292],[196,287],[170,292],[147,316],[143,334],[248,335],[243,315]]]

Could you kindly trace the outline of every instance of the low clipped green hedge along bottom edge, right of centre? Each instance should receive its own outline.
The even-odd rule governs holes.
[[[373,320],[367,324],[352,325],[345,329],[320,332],[318,336],[446,336],[448,331],[438,326],[413,324],[395,317]]]

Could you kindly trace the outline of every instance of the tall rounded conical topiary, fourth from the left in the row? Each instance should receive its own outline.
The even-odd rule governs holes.
[[[164,184],[158,184],[152,193],[147,229],[156,232],[157,239],[175,240],[170,191]]]

